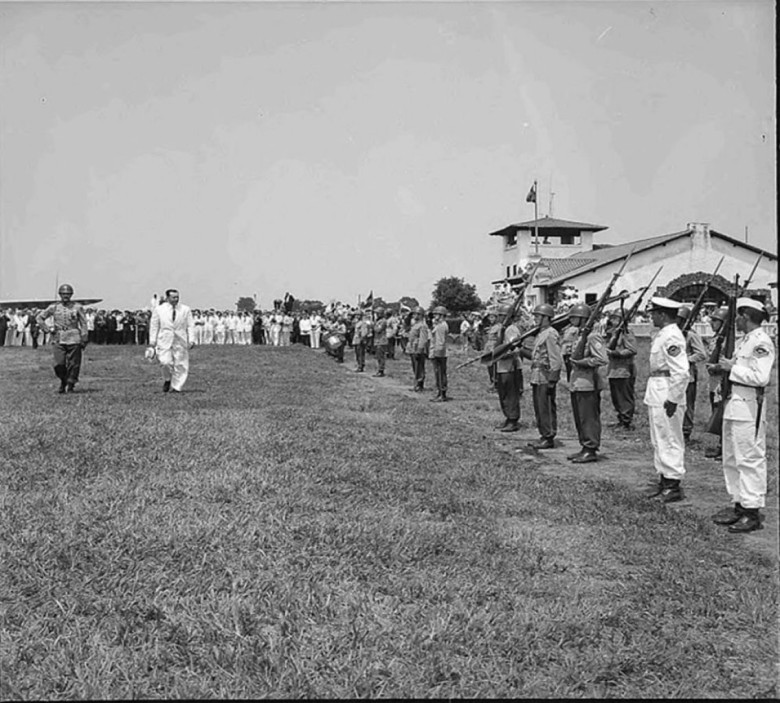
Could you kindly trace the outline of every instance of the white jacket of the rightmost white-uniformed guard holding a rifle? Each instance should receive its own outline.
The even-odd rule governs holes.
[[[726,420],[755,421],[757,389],[769,384],[774,361],[774,344],[761,327],[751,330],[737,343],[729,373],[731,396],[723,410]]]

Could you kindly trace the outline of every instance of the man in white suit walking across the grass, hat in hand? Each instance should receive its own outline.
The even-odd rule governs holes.
[[[163,370],[163,392],[181,391],[190,369],[189,350],[194,346],[195,321],[186,305],[179,304],[179,291],[165,291],[165,302],[152,310],[149,348]]]

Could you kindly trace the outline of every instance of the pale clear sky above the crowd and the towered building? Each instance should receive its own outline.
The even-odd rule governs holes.
[[[771,0],[0,3],[0,297],[484,298],[534,179],[599,243],[699,221],[776,252],[774,27]]]

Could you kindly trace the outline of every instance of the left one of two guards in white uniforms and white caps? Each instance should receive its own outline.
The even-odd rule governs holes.
[[[675,324],[681,303],[669,298],[651,298],[650,316],[659,328],[650,346],[650,372],[645,389],[653,443],[653,463],[660,479],[648,498],[663,503],[683,499],[680,481],[685,475],[685,390],[689,367],[685,337]]]

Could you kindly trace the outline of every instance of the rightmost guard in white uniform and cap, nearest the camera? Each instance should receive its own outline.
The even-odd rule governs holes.
[[[734,356],[709,364],[708,371],[728,373],[731,393],[723,401],[723,476],[734,502],[713,516],[729,532],[761,529],[759,509],[766,499],[766,409],[764,389],[769,385],[775,347],[761,327],[766,310],[757,300],[737,300],[737,342]]]

